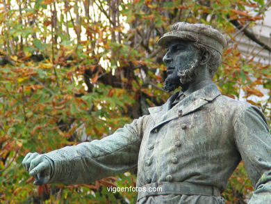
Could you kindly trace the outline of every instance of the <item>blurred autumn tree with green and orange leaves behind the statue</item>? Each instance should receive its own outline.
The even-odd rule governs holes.
[[[263,0],[3,0],[0,4],[0,201],[4,203],[134,203],[136,192],[108,193],[106,186],[135,186],[126,173],[90,185],[35,187],[22,168],[27,152],[48,152],[102,138],[163,104],[165,51],[156,40],[174,22],[203,22],[229,41],[215,76],[229,97],[263,96],[270,65],[244,58],[235,33],[263,49],[249,32],[264,17]],[[268,116],[268,101],[247,100]],[[268,116],[270,121],[270,116]],[[85,134],[87,136],[85,136]],[[245,203],[252,192],[243,164],[223,194]]]

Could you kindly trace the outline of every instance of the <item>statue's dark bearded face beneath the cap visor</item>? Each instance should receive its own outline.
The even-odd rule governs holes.
[[[199,51],[192,42],[175,40],[167,47],[163,61],[167,65],[165,91],[174,91],[179,86],[195,79],[199,69]]]

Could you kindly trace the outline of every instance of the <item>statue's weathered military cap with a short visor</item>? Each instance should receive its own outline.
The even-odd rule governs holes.
[[[215,49],[220,54],[227,45],[227,41],[220,31],[206,24],[190,24],[187,22],[177,22],[172,25],[172,30],[165,33],[157,43],[161,47],[167,47],[170,41],[176,39],[197,42]]]

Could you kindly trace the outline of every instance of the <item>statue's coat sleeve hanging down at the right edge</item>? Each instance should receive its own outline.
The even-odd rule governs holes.
[[[234,123],[236,146],[254,193],[249,204],[271,203],[271,136],[263,113],[246,107]]]

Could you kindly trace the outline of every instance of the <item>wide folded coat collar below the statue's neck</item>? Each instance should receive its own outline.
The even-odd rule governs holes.
[[[172,95],[167,102],[160,107],[149,108],[149,113],[154,119],[156,127],[169,120],[178,118],[180,116],[180,111],[182,112],[181,116],[185,116],[188,113],[204,106],[204,104],[213,101],[218,95],[221,95],[215,84],[208,84],[207,86],[204,86],[203,88],[186,96],[178,104],[172,107],[172,109],[170,109],[170,105],[174,102],[178,94],[179,93],[174,93],[174,95]]]

